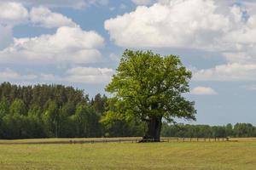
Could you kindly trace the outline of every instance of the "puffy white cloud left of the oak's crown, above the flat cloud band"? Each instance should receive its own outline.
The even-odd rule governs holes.
[[[53,35],[15,38],[0,51],[0,63],[12,64],[84,64],[101,59],[99,48],[104,39],[95,31],[62,26]]]

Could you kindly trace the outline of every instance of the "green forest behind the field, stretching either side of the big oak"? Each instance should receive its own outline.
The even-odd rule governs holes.
[[[62,85],[0,85],[0,139],[94,138],[143,136],[145,124],[136,118],[106,121],[111,100],[92,99],[83,90]],[[164,123],[165,137],[255,137],[250,123],[235,126]]]

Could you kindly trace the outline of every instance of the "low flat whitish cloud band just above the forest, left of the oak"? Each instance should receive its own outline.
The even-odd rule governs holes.
[[[105,84],[111,81],[114,74],[111,68],[97,68],[97,67],[73,67],[64,71],[61,75],[50,73],[41,74],[21,74],[6,68],[0,71],[0,82],[51,82],[51,83],[83,83],[83,84]]]

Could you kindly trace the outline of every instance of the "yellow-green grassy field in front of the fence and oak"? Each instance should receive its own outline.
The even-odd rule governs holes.
[[[256,139],[156,144],[0,144],[1,169],[256,169]]]

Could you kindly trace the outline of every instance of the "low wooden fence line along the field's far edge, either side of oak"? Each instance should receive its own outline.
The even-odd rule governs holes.
[[[30,142],[0,142],[0,144],[96,144],[96,143],[138,143],[142,138],[132,139],[70,139],[56,141],[30,141]],[[154,139],[147,139],[152,142]],[[166,138],[162,137],[160,142],[224,142],[230,141],[229,138]]]

